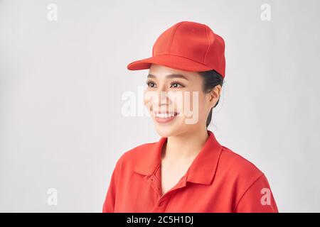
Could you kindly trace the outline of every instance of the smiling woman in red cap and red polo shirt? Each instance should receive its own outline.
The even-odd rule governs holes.
[[[206,25],[182,21],[161,33],[144,104],[161,138],[124,153],[103,212],[278,212],[267,178],[207,127],[225,78],[225,42]]]

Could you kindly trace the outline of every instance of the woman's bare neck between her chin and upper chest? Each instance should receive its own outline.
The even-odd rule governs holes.
[[[203,148],[208,139],[207,128],[191,133],[169,136],[162,153],[162,160],[170,162],[193,159]]]

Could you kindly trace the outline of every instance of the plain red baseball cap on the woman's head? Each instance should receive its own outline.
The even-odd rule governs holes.
[[[225,41],[202,23],[181,21],[161,33],[152,57],[131,62],[128,70],[146,70],[151,63],[177,70],[215,70],[225,77]]]

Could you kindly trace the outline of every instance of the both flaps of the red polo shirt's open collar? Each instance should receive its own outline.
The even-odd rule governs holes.
[[[206,143],[186,172],[186,181],[188,182],[211,184],[215,176],[222,146],[215,139],[213,132],[207,132]],[[166,140],[167,138],[161,137],[158,142],[151,143],[149,150],[135,165],[134,171],[147,176],[154,174],[161,163],[161,150]]]

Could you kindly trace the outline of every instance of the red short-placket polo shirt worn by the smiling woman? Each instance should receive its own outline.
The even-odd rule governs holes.
[[[167,138],[124,153],[112,172],[103,212],[278,212],[255,165],[208,139],[186,174],[161,196],[161,148]]]

